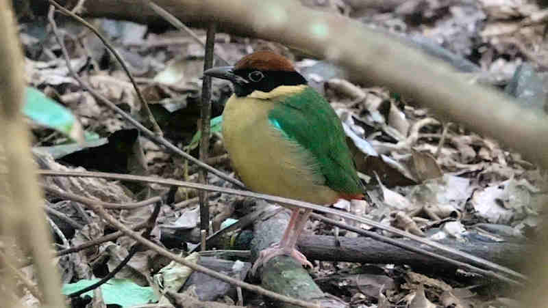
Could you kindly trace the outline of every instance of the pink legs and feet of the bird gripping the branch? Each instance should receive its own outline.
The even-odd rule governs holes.
[[[310,216],[311,212],[312,210],[306,210],[304,214],[300,215],[298,209],[293,210],[290,223],[286,229],[286,232],[284,232],[284,237],[282,238],[282,241],[280,241],[279,244],[274,244],[272,247],[264,249],[260,252],[258,259],[255,261],[255,264],[253,264],[253,267],[251,268],[252,275],[255,275],[255,272],[260,265],[265,264],[277,255],[289,255],[295,258],[295,260],[299,261],[304,266],[310,266],[310,268],[313,267],[312,263],[308,262],[308,260],[306,260],[306,257],[300,251],[295,249],[297,239],[303,232],[306,221],[308,221],[308,217]]]

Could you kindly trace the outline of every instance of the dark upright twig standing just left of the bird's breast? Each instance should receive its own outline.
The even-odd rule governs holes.
[[[206,57],[203,61],[203,71],[213,66],[213,48],[215,43],[215,23],[210,23],[206,34]],[[201,139],[200,139],[200,160],[206,161],[210,148],[210,119],[211,119],[211,76],[203,76],[201,87]],[[200,169],[198,173],[198,182],[208,184],[208,171]],[[199,191],[200,199],[200,228],[206,232],[202,236],[202,250],[206,250],[206,236],[210,230],[210,206],[207,191]]]

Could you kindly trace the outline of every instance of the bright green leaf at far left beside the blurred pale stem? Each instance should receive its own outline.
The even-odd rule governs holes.
[[[75,141],[84,141],[84,130],[73,113],[34,87],[25,89],[23,113],[40,125],[58,130]]]

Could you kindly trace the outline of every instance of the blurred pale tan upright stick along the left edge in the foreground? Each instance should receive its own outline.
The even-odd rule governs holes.
[[[60,277],[51,262],[51,235],[47,226],[38,188],[36,165],[30,152],[29,130],[23,117],[23,68],[21,45],[18,43],[12,1],[0,1],[0,148],[8,173],[0,178],[0,234],[6,242],[5,262],[14,262],[14,247],[28,251],[36,260],[38,289],[43,307],[64,307]],[[9,243],[9,245],[8,245]],[[12,244],[16,246],[12,246]],[[2,306],[19,307],[13,303],[14,283],[10,277],[0,278],[5,288],[0,297]]]

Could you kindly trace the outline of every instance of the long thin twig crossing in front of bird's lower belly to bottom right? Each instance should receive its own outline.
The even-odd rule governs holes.
[[[462,251],[458,251],[456,249],[453,249],[451,247],[447,247],[443,244],[440,244],[438,242],[434,242],[433,240],[429,240],[427,238],[421,238],[420,236],[415,236],[413,234],[410,234],[408,232],[405,232],[401,229],[397,229],[395,227],[391,227],[388,225],[382,225],[381,223],[378,223],[377,221],[373,221],[371,219],[366,219],[365,217],[356,216],[353,214],[349,214],[347,212],[343,212],[340,210],[335,210],[333,208],[326,208],[325,206],[317,206],[316,204],[310,204],[308,202],[299,201],[299,200],[293,200],[293,199],[287,199],[283,197],[277,197],[272,195],[264,195],[260,193],[253,193],[250,191],[239,191],[237,189],[232,188],[224,188],[219,186],[212,186],[212,185],[204,185],[199,183],[192,183],[192,182],[182,182],[177,180],[166,180],[166,179],[159,179],[159,178],[152,178],[152,177],[146,177],[146,176],[133,176],[129,174],[116,174],[116,173],[104,173],[104,172],[75,172],[75,171],[51,171],[51,170],[41,170],[38,171],[39,174],[42,176],[77,176],[77,177],[91,177],[91,178],[111,178],[116,180],[125,180],[125,181],[133,181],[133,182],[147,182],[147,183],[156,183],[156,184],[164,184],[168,186],[182,186],[186,188],[194,188],[194,189],[203,189],[207,191],[216,191],[220,193],[228,193],[231,195],[240,195],[244,197],[253,197],[257,199],[263,199],[266,201],[275,202],[277,204],[287,204],[289,206],[298,206],[299,208],[304,208],[308,210],[316,210],[323,213],[329,213],[329,214],[335,214],[340,217],[344,217],[346,219],[351,219],[353,221],[358,221],[360,223],[366,223],[367,225],[371,225],[373,227],[377,227],[379,229],[383,229],[385,231],[391,232],[393,234],[397,234],[399,236],[403,236],[406,238],[410,238],[411,240],[414,240],[416,242],[420,242],[421,244],[427,244],[430,247],[434,247],[436,249],[439,249],[440,251],[445,251],[446,253],[451,253],[453,255],[459,255],[460,257],[469,260],[471,264],[464,264],[463,267],[467,268],[469,270],[477,270],[476,266],[473,266],[472,264],[475,264],[481,268],[487,269],[487,270],[493,270],[493,271],[499,271],[506,273],[506,275],[510,275],[514,277],[515,279],[523,279],[527,280],[527,277],[524,275],[521,275],[519,272],[516,272],[514,270],[511,270],[510,268],[506,268],[505,266],[501,266],[499,264],[495,264],[494,262],[490,262],[488,260],[484,260],[481,257],[476,257],[475,255],[470,255],[469,253],[464,253]],[[383,240],[384,241],[384,240]],[[436,254],[436,258],[441,257],[440,255]],[[490,277],[501,279],[499,275],[490,275]],[[503,279],[505,280],[505,279]],[[508,281],[508,279],[506,279]],[[508,281],[512,282],[512,281]]]

